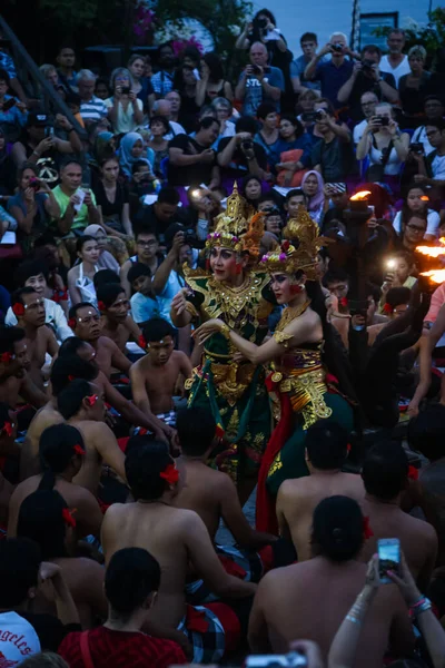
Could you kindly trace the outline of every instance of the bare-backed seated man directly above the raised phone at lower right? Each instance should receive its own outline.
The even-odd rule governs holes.
[[[393,441],[374,445],[365,456],[362,478],[366,490],[363,509],[369,517],[373,536],[360,559],[370,559],[379,538],[398,538],[418,588],[426,591],[436,562],[437,536],[428,522],[413,518],[399,507],[408,487],[408,458],[402,445]]]

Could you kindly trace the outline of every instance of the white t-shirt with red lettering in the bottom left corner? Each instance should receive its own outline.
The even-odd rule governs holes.
[[[19,666],[40,651],[34,628],[17,612],[0,613],[0,666]]]

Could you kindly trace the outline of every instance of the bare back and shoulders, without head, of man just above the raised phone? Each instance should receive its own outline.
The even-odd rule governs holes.
[[[360,561],[368,561],[377,551],[379,538],[398,538],[409,570],[422,591],[426,591],[436,563],[437,536],[431,524],[417,520],[399,508],[402,493],[384,502],[366,494],[363,512],[369,517],[372,536],[360,552]]]

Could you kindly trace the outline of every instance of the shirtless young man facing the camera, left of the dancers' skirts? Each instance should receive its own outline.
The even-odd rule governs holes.
[[[141,411],[151,411],[170,426],[175,426],[174,394],[180,376],[191,377],[190,360],[175,351],[174,328],[167,321],[156,317],[144,327],[147,354],[130,370],[132,396]]]

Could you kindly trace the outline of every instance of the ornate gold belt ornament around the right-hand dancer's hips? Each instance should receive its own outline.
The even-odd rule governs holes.
[[[279,383],[279,392],[290,393],[290,404],[295,413],[303,414],[303,429],[307,430],[317,420],[330,418],[333,414],[325,403],[324,395],[327,392],[325,372],[322,366],[312,369],[294,370],[286,376],[276,371],[271,375],[274,383]]]

